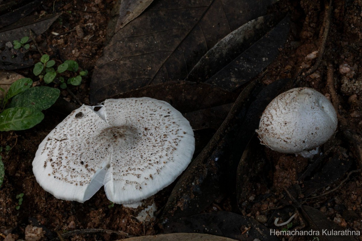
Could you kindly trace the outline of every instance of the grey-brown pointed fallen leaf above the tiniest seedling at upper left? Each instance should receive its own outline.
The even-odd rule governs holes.
[[[24,36],[30,35],[30,30],[34,32],[35,36],[44,33],[50,25],[62,13],[47,14],[43,17],[39,15],[28,16],[20,19],[19,21],[0,29],[0,41],[20,40]]]

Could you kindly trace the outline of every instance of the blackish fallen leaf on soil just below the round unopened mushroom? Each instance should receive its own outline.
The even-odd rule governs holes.
[[[339,178],[344,176],[352,165],[352,160],[345,159],[342,155],[335,154],[323,165],[320,172],[317,172],[312,179],[304,181],[302,193],[309,197],[317,190],[327,187]]]

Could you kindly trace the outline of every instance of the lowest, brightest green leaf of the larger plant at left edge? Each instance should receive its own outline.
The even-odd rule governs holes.
[[[37,109],[8,108],[0,114],[0,131],[26,130],[39,124],[43,119],[44,114]]]

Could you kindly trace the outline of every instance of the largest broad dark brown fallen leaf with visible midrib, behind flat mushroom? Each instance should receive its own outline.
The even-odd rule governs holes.
[[[150,84],[185,79],[207,50],[244,23],[264,15],[273,2],[153,2],[118,30],[104,48],[92,76],[91,102]]]

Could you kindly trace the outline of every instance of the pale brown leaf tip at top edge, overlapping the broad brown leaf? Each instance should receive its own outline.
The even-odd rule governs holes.
[[[118,31],[124,27],[127,23],[134,20],[139,14],[141,14],[144,9],[146,9],[153,0],[120,0],[119,8],[119,18],[117,20],[117,25],[115,26],[115,31]]]

